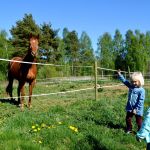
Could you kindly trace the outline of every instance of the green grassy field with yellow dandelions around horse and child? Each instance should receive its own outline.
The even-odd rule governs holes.
[[[109,83],[100,82],[101,85]],[[111,83],[113,84],[113,83]],[[125,130],[127,88],[112,87],[32,98],[32,108],[3,99],[6,83],[0,84],[0,149],[2,150],[144,150],[134,134]],[[38,84],[33,94],[92,87],[92,82]],[[145,110],[150,105],[146,88]],[[26,87],[26,91],[28,88]],[[16,96],[16,86],[14,87]],[[25,100],[27,103],[27,99]],[[134,120],[135,122],[135,120]],[[133,124],[134,131],[136,125]]]

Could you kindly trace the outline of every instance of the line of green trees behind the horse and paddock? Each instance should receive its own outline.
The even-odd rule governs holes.
[[[97,50],[94,51],[88,34],[83,31],[81,36],[67,27],[63,29],[62,37],[59,29],[53,29],[51,23],[36,24],[32,14],[25,14],[18,20],[8,33],[0,30],[0,58],[11,59],[14,56],[23,57],[28,49],[30,34],[40,36],[38,62],[61,64],[70,67],[69,75],[90,74],[89,68],[76,69],[77,66],[93,66],[94,61],[103,68],[149,72],[150,32],[146,34],[139,30],[128,30],[125,37],[116,29],[114,37],[108,32],[99,36]],[[0,63],[0,78],[6,76],[7,63]],[[41,75],[44,69],[39,67]],[[60,72],[56,67],[45,68],[47,72]],[[50,73],[51,74],[51,73]],[[52,74],[50,76],[53,76]]]

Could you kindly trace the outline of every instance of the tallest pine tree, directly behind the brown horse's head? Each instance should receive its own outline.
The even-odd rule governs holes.
[[[36,25],[31,14],[25,14],[22,20],[16,22],[16,26],[12,26],[10,32],[12,35],[10,41],[15,47],[13,56],[24,56],[28,50],[30,34],[40,34],[40,28]]]

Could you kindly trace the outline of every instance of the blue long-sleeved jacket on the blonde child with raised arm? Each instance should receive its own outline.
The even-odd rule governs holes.
[[[126,111],[132,112],[136,109],[136,114],[143,116],[145,89],[133,86],[123,75],[119,75],[119,79],[129,88]]]

